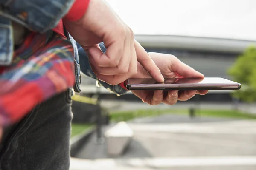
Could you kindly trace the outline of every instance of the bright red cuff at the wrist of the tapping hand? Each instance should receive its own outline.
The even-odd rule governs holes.
[[[72,22],[81,19],[89,6],[89,2],[90,0],[75,0],[64,19]]]

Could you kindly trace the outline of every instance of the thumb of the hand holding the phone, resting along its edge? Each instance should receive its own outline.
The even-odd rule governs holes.
[[[172,63],[172,71],[175,71],[178,75],[182,77],[197,77],[204,78],[204,74],[201,74],[195,69],[189,67],[185,63],[181,62],[179,59],[175,58]]]

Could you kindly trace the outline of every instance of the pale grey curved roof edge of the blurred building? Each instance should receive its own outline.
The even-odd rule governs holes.
[[[172,36],[172,35],[135,35],[144,48],[175,48],[200,51],[241,53],[256,41],[234,40],[209,37]]]

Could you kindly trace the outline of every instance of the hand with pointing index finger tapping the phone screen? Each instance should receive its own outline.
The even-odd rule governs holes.
[[[91,0],[79,21],[64,20],[64,24],[71,36],[89,54],[90,64],[98,79],[111,85],[123,82],[137,72],[138,61],[154,79],[163,81],[159,69],[146,53],[136,55],[143,48],[134,42],[131,28],[105,0]],[[99,42],[104,42],[107,48],[105,54],[97,45]]]

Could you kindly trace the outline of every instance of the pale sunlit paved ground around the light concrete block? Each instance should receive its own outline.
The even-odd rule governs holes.
[[[72,159],[71,170],[256,169],[255,121],[163,115],[129,126],[135,136],[123,156],[109,157],[93,136],[79,159]]]

